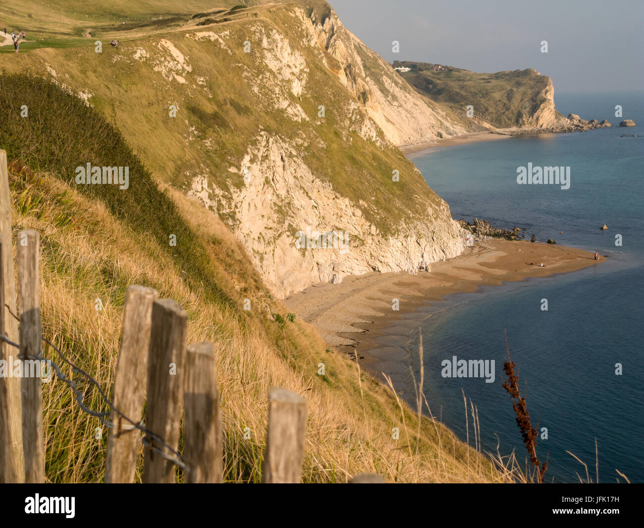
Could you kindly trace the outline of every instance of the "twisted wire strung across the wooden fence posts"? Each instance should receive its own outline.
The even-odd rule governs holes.
[[[5,308],[12,315],[12,317],[14,317],[18,321],[20,320],[19,317],[17,317],[17,315],[15,315],[15,313],[13,313],[11,311],[11,308],[9,308],[9,306],[7,304],[5,304]],[[46,344],[48,344],[50,347],[52,347],[58,353],[58,355],[61,357],[62,361],[64,363],[68,364],[71,367],[72,371],[75,371],[76,373],[79,373],[81,376],[84,376],[84,378],[86,378],[86,382],[89,382],[91,385],[94,385],[97,388],[97,390],[99,391],[100,398],[103,400],[103,403],[106,404],[109,407],[109,409],[113,413],[115,413],[115,415],[118,415],[118,416],[120,416],[120,418],[122,418],[122,419],[126,420],[127,422],[129,422],[129,426],[127,427],[128,429],[138,429],[139,431],[144,433],[144,436],[141,437],[141,443],[145,447],[147,447],[147,449],[149,449],[151,451],[151,453],[155,453],[156,455],[159,455],[161,458],[164,458],[165,460],[167,460],[169,462],[172,462],[173,464],[175,464],[177,467],[180,467],[181,469],[184,469],[184,470],[186,469],[185,468],[184,457],[181,455],[181,453],[176,451],[176,449],[173,449],[173,447],[171,447],[171,445],[167,444],[166,441],[161,436],[159,436],[156,433],[154,433],[153,431],[150,431],[149,429],[147,429],[147,427],[144,425],[143,420],[140,420],[140,422],[135,422],[134,420],[132,420],[128,416],[124,415],[124,413],[119,411],[117,409],[117,407],[114,406],[113,402],[111,402],[111,400],[109,400],[108,396],[103,392],[103,389],[100,388],[99,382],[97,382],[97,380],[95,380],[92,376],[90,376],[83,369],[81,369],[81,367],[73,364],[73,362],[68,360],[64,356],[64,354],[61,352],[61,350],[57,346],[55,346],[50,340],[48,340],[48,338],[42,337],[42,339],[43,339],[44,342],[46,342]],[[12,340],[10,340],[5,335],[0,334],[0,340],[4,341],[5,343],[7,343],[7,344],[9,344],[11,346],[14,346],[17,349],[20,349],[19,344],[14,343]],[[56,376],[58,376],[59,380],[64,382],[73,391],[73,393],[75,395],[76,403],[79,406],[79,408],[81,409],[81,411],[83,411],[87,415],[94,416],[95,418],[98,418],[99,422],[101,424],[103,424],[105,427],[108,427],[108,429],[117,429],[117,431],[121,431],[122,429],[124,429],[124,427],[121,424],[117,425],[117,424],[114,424],[113,422],[110,422],[108,419],[106,419],[106,416],[109,416],[110,413],[93,411],[92,409],[87,407],[83,403],[84,395],[83,395],[83,393],[81,391],[79,391],[76,382],[74,380],[70,380],[69,378],[67,378],[61,372],[61,368],[56,364],[56,362],[54,362],[51,359],[46,359],[46,358],[43,357],[43,348],[42,347],[41,347],[40,352],[38,353],[38,355],[36,357],[24,357],[22,359],[24,359],[24,360],[41,360],[41,361],[48,362],[48,364],[50,364],[52,366],[52,368],[54,369],[54,371],[56,373]],[[165,447],[167,449],[167,451],[169,451],[169,453],[171,453],[171,454],[166,453],[166,451],[162,451],[162,449],[159,449],[158,447],[156,447],[155,444],[160,444],[162,447]]]

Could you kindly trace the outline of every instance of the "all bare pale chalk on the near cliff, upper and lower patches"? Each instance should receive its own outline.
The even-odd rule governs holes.
[[[328,17],[316,27],[303,10],[290,9],[301,24],[297,42],[278,28],[251,27],[263,64],[243,75],[258,99],[303,127],[314,128],[319,115],[307,115],[299,101],[310,89],[308,73],[323,65],[336,73],[346,89],[346,95],[335,99],[333,105],[339,118],[336,132],[345,141],[343,155],[351,156],[352,150],[359,148],[352,145],[352,132],[380,149],[389,141],[411,142],[441,133],[439,121],[413,90],[402,79],[395,79],[395,73],[389,75],[388,64],[348,32],[349,48],[345,46],[337,36],[341,28],[337,17]],[[388,88],[384,93],[365,76],[357,48],[382,68],[382,81]],[[334,69],[331,57],[323,51],[339,57],[343,68]],[[308,61],[315,57],[319,63],[310,64],[307,57]],[[363,95],[350,97],[356,93]],[[448,205],[426,188],[422,175],[411,164],[408,170],[413,178],[425,186],[424,197],[415,197],[422,206],[404,211],[392,229],[382,233],[366,219],[366,213],[388,222],[388,208],[405,205],[392,200],[388,208],[374,210],[366,200],[341,193],[303,160],[312,142],[327,147],[323,137],[306,130],[291,139],[262,130],[249,141],[239,166],[229,168],[229,185],[212,184],[208,175],[199,173],[188,191],[222,217],[234,219],[234,233],[275,295],[287,297],[317,282],[340,282],[346,275],[369,271],[429,271],[431,262],[463,251],[464,233],[451,219]],[[243,184],[235,184],[240,179]]]

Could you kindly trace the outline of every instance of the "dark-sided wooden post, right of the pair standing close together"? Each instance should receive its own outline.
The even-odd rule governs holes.
[[[146,427],[176,451],[182,400],[187,313],[171,299],[155,300],[147,359]],[[167,449],[160,444],[155,447]],[[167,453],[169,454],[169,453]],[[175,482],[175,465],[146,449],[143,482]]]

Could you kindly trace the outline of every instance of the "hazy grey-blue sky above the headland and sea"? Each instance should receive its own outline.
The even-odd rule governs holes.
[[[644,0],[329,0],[384,59],[535,68],[555,93],[644,90]],[[392,53],[392,41],[400,52]],[[548,53],[540,51],[547,41]]]

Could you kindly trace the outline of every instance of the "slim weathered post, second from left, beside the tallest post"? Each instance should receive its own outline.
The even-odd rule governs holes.
[[[44,482],[43,386],[41,381],[40,235],[18,233],[18,300],[20,357],[23,360],[24,481]]]

